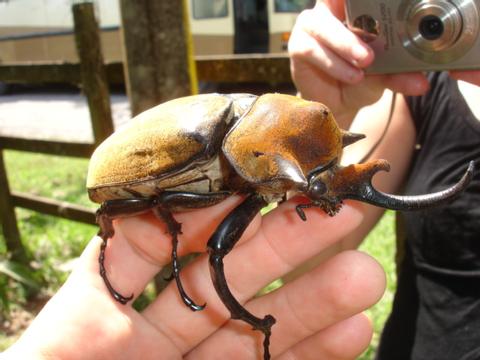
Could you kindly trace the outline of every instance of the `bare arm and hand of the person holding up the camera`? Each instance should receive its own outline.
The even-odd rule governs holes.
[[[399,92],[388,131],[370,156],[391,164],[390,173],[375,176],[375,186],[398,193],[408,172],[416,136],[405,96],[423,94],[429,84],[420,73],[365,75],[364,68],[371,64],[374,53],[343,25],[344,13],[344,1],[330,0],[318,1],[312,10],[300,14],[289,41],[292,78],[299,95],[326,104],[342,128],[367,135],[345,148],[343,164],[358,163],[375,146],[387,126],[390,89]],[[363,203],[359,209],[364,221],[355,231],[285,279],[291,281],[334,254],[358,246],[384,212]]]

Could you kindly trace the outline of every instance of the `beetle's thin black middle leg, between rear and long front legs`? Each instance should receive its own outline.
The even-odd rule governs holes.
[[[185,305],[187,305],[192,311],[203,310],[206,304],[195,304],[195,302],[185,292],[182,282],[180,280],[180,265],[178,263],[177,248],[178,234],[182,233],[181,224],[175,220],[172,213],[168,209],[165,209],[162,206],[154,208],[153,213],[167,224],[168,233],[172,236],[172,275],[170,277],[175,278],[178,292],[180,293],[180,296]]]

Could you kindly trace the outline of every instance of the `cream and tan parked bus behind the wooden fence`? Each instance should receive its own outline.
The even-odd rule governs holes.
[[[78,61],[74,0],[0,0],[0,64]],[[314,0],[187,0],[196,55],[278,53]],[[121,61],[118,0],[95,0],[106,62]]]

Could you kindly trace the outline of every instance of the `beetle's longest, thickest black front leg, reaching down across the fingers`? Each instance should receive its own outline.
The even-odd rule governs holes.
[[[262,207],[267,205],[259,195],[250,195],[243,203],[237,206],[222,221],[215,233],[208,241],[210,262],[210,274],[218,296],[230,311],[232,319],[239,319],[253,326],[254,330],[260,330],[265,335],[263,341],[264,359],[270,359],[270,335],[275,318],[266,315],[260,319],[248,312],[233,296],[228,288],[223,269],[223,258],[235,246],[242,236],[248,224]]]

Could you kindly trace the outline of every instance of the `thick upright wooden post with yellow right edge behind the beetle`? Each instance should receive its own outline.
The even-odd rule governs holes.
[[[124,72],[133,115],[197,92],[186,1],[180,3],[120,0]]]

